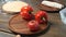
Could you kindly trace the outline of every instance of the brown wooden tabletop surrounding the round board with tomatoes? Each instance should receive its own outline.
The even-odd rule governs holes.
[[[32,0],[32,1],[24,0],[24,2],[28,2],[29,4],[31,4],[33,7],[34,13],[36,13],[36,11],[38,11],[38,8],[36,7],[36,4],[40,3],[41,1],[40,0]],[[48,14],[48,22],[51,25],[48,30],[45,34],[42,34],[40,36],[33,36],[33,37],[66,37],[66,25],[62,23],[59,13],[58,12],[57,13],[47,12],[47,14]],[[9,37],[15,36],[8,27],[9,21],[12,16],[13,16],[12,14],[2,14],[0,11],[0,37],[6,37],[6,35]],[[25,37],[31,37],[31,36],[25,36]]]

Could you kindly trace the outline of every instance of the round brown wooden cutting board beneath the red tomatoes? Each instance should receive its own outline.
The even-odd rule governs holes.
[[[14,33],[18,33],[18,34],[25,34],[25,35],[32,35],[32,34],[37,34],[37,33],[41,33],[42,30],[46,29],[48,27],[48,25],[45,23],[45,24],[41,24],[40,25],[40,30],[37,32],[31,32],[29,28],[28,28],[28,22],[29,21],[25,21],[22,18],[21,15],[14,15],[10,21],[9,21],[9,28],[14,32]]]

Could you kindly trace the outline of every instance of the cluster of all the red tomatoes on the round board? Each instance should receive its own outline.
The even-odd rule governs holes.
[[[45,11],[37,11],[34,15],[33,8],[30,5],[23,7],[21,9],[20,15],[22,18],[30,21],[28,27],[30,30],[38,30],[40,24],[47,23],[47,13]]]

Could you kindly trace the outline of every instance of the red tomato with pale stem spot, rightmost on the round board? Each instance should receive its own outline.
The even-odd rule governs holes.
[[[38,11],[36,14],[35,14],[35,20],[38,22],[38,23],[45,23],[47,22],[47,13],[45,11]]]

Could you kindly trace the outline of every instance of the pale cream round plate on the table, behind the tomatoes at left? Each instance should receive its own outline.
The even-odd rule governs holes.
[[[9,1],[2,5],[2,11],[4,11],[6,13],[18,13],[24,5],[29,4],[23,1]]]

